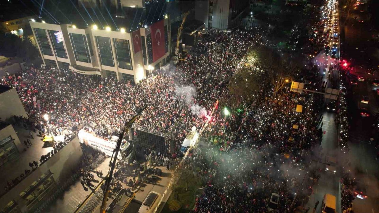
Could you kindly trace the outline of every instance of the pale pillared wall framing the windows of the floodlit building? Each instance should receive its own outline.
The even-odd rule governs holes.
[[[51,61],[55,61],[58,68],[63,68],[63,64],[66,63],[69,65],[70,69],[80,74],[87,74],[87,75],[100,74],[102,77],[106,77],[109,74],[109,75],[115,75],[117,79],[119,80],[122,79],[123,76],[132,75],[134,77],[134,82],[138,83],[143,78],[146,78],[146,70],[149,70],[149,67],[160,65],[163,61],[166,60],[166,58],[170,54],[168,50],[168,52],[166,52],[166,54],[163,57],[161,57],[159,60],[155,61],[154,63],[144,64],[142,51],[138,52],[137,54],[134,54],[134,51],[133,51],[134,44],[133,44],[133,39],[131,38],[132,33],[128,31],[122,32],[121,28],[120,30],[111,29],[110,31],[107,31],[103,29],[95,29],[93,27],[89,27],[86,29],[79,29],[79,28],[74,28],[73,25],[67,25],[67,24],[57,25],[57,24],[49,24],[49,23],[41,23],[41,22],[30,22],[30,25],[33,29],[33,34],[38,44],[38,50],[42,56],[42,59],[45,65],[49,65],[49,60],[51,60]],[[166,17],[164,19],[164,25],[167,25],[167,26],[170,25],[169,17]],[[47,34],[47,37],[49,38],[48,39],[49,46],[53,53],[52,54],[53,56],[43,54],[43,50],[38,42],[38,36],[36,36],[37,28],[45,30],[45,33]],[[145,34],[146,29],[149,29],[149,27],[139,29],[141,36]],[[168,34],[168,42],[170,46],[171,27],[168,27],[168,29],[169,31],[167,32],[167,34]],[[53,39],[55,38],[52,38],[52,36],[49,33],[49,30],[62,32],[63,45],[67,53],[67,58],[57,57],[57,53],[54,52],[54,49],[53,49],[53,42],[54,42]],[[69,33],[81,34],[81,35],[88,34],[89,40],[91,41],[91,47],[92,47],[92,52],[93,52],[93,55],[91,56],[91,63],[76,61],[73,45],[72,45],[73,42],[70,41]],[[111,46],[111,52],[112,52],[112,55],[110,57],[113,60],[114,66],[106,66],[104,65],[104,63],[102,63],[101,61],[102,58],[100,58],[99,56],[100,49],[98,47],[98,42],[97,42],[99,37],[97,36],[110,39],[110,46]],[[122,69],[119,67],[119,62],[117,61],[117,55],[116,55],[116,47],[115,47],[115,43],[113,42],[113,39],[124,39],[128,41],[132,69]],[[47,47],[47,49],[49,49],[49,47]],[[44,50],[46,50],[46,48]]]

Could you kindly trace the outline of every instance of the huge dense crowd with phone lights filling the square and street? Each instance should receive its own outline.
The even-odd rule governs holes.
[[[196,212],[265,212],[271,193],[277,193],[277,212],[283,213],[290,211],[299,173],[310,157],[317,158],[322,134],[317,127],[318,105],[312,103],[318,97],[312,101],[310,95],[304,98],[289,91],[273,96],[266,82],[241,115],[241,123],[235,115],[222,117],[215,104],[226,97],[228,80],[247,50],[259,42],[258,30],[210,30],[196,54],[187,55],[174,70],[160,70],[137,85],[53,67],[7,75],[1,83],[17,89],[34,125],[55,135],[85,128],[109,137],[145,104],[148,107],[137,124],[178,143],[191,127],[199,129],[207,121],[204,133],[219,137],[219,146],[196,150],[192,156],[194,168],[210,177]],[[307,110],[297,113],[297,104]],[[44,114],[50,115],[49,127]],[[311,184],[304,184],[302,191]],[[297,205],[304,201],[302,195]]]

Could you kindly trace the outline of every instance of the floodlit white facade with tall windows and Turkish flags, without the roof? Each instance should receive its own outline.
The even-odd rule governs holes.
[[[171,27],[165,16],[135,31],[77,28],[73,24],[30,21],[45,65],[79,74],[114,76],[138,83],[169,57]]]

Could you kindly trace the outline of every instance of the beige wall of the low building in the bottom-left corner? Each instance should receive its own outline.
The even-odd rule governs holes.
[[[64,182],[65,178],[71,173],[71,169],[77,168],[82,155],[83,152],[81,151],[79,140],[78,138],[74,138],[74,140],[23,179],[21,183],[3,195],[0,199],[0,207],[5,207],[11,200],[14,200],[22,212],[27,212],[25,200],[20,196],[20,193],[28,188],[34,181],[38,180],[41,175],[49,171],[53,173],[52,177],[55,182]]]

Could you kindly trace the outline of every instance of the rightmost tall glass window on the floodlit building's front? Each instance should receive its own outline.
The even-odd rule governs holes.
[[[133,70],[129,40],[114,38],[113,45],[116,49],[118,66],[122,69]]]

